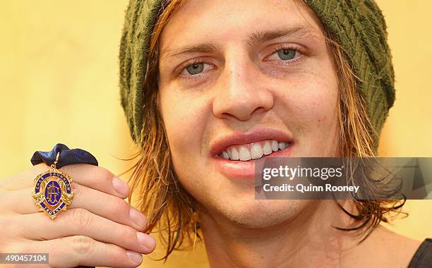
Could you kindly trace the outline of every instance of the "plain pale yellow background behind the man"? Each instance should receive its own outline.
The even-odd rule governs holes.
[[[0,1],[0,178],[30,167],[35,150],[56,142],[92,152],[114,173],[133,154],[121,110],[118,49],[126,0]],[[379,0],[388,23],[397,99],[380,154],[432,157],[432,1]],[[29,178],[30,179],[30,178]],[[410,216],[391,228],[412,238],[432,236],[432,200],[409,201]],[[162,254],[162,248],[151,257]],[[191,263],[197,263],[192,266]],[[205,267],[205,251],[176,253],[166,265]]]

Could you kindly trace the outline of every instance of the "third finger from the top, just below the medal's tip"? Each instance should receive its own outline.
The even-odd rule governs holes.
[[[146,233],[76,208],[68,209],[52,220],[44,212],[13,217],[20,223],[17,236],[30,240],[52,240],[66,236],[88,236],[136,252],[148,254],[155,250],[156,240]]]

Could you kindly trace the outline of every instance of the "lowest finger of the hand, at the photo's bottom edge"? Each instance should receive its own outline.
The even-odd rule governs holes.
[[[48,253],[50,267],[138,267],[143,256],[118,245],[87,236],[68,236],[47,241],[26,241],[23,252]]]

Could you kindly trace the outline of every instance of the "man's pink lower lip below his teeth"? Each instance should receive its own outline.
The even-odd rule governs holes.
[[[263,155],[263,158],[267,157],[289,157],[292,152],[292,146],[273,152],[272,154]],[[230,178],[255,178],[255,162],[259,159],[251,159],[248,161],[232,161],[224,157],[214,157],[213,160],[217,166],[217,169],[224,175]]]

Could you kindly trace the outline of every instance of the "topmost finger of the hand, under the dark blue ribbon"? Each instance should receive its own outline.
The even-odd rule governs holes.
[[[24,188],[34,187],[34,178],[40,173],[47,171],[49,166],[44,163],[37,164],[27,171],[14,176],[11,179],[6,179],[1,184],[4,190],[22,190]],[[127,183],[117,178],[111,171],[90,164],[73,164],[63,166],[59,169],[62,172],[71,176],[72,181],[85,185],[95,190],[114,195],[124,199],[128,196],[130,188]]]

